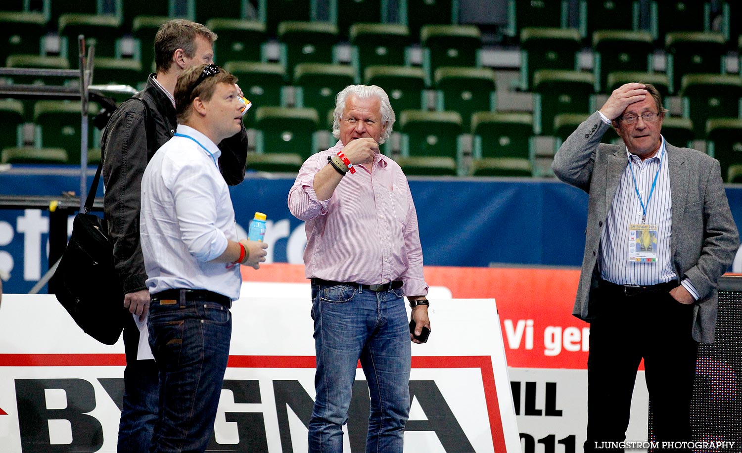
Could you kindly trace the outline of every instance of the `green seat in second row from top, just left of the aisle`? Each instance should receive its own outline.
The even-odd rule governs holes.
[[[423,69],[432,77],[443,66],[479,66],[482,36],[474,25],[424,25],[420,45]]]

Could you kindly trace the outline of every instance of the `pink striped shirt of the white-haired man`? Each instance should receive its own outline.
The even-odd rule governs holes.
[[[315,173],[341,149],[338,142],[306,159],[289,192],[289,210],[306,222],[306,278],[367,285],[402,280],[405,296],[427,295],[417,212],[396,162],[376,154],[372,172],[355,165],[358,171],[344,176],[328,200],[317,199]]]

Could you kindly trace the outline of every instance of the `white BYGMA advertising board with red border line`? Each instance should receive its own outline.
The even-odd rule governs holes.
[[[274,294],[281,287],[273,285]],[[257,292],[250,289],[247,284],[243,293]],[[306,452],[315,368],[307,300],[253,296],[234,302],[210,449]],[[494,301],[438,300],[431,315],[435,333],[413,345],[405,451],[519,453]],[[96,343],[48,295],[5,294],[0,331],[1,451],[115,452],[122,343]],[[364,451],[368,406],[359,368],[346,452]]]

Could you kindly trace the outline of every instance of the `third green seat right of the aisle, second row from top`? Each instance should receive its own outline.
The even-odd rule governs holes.
[[[723,73],[726,49],[721,33],[667,33],[665,51],[672,94],[680,90],[686,74]]]

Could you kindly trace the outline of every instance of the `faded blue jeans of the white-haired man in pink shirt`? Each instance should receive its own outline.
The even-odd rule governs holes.
[[[358,360],[371,397],[366,452],[401,453],[410,414],[410,328],[401,288],[312,286],[317,395],[309,452],[341,453]]]

